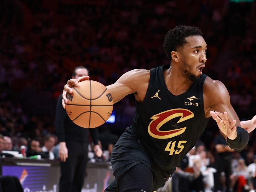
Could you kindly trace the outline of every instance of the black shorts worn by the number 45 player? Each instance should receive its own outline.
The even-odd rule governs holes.
[[[168,180],[166,178],[171,177],[169,173],[165,174],[156,165],[150,162],[146,150],[133,135],[130,128],[127,128],[116,142],[111,153],[111,164],[114,176],[116,177],[117,188],[120,178],[128,170],[138,164],[144,164],[152,171],[153,183],[151,191],[156,191],[158,188],[163,187]]]

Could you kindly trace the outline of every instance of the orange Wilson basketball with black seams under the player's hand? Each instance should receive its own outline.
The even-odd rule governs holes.
[[[97,81],[82,81],[76,84],[72,94],[67,94],[68,117],[84,128],[94,128],[104,124],[113,110],[112,95]]]

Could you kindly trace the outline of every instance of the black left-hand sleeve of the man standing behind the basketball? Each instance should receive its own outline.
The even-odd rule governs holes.
[[[59,142],[65,142],[65,129],[64,122],[68,117],[66,110],[62,107],[62,96],[60,95],[57,100],[56,106],[56,115],[55,115],[55,126],[56,126],[56,134],[58,136]]]

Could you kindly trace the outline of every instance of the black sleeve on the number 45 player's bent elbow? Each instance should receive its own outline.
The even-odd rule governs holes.
[[[241,127],[236,127],[236,132],[237,132],[236,139],[231,140],[231,139],[227,138],[227,143],[230,148],[235,149],[236,151],[240,152],[248,144],[249,133]]]

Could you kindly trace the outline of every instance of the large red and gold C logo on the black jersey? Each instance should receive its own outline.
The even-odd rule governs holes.
[[[148,125],[149,135],[151,135],[156,139],[169,139],[184,133],[187,127],[183,127],[180,129],[173,129],[170,131],[159,130],[161,126],[163,126],[166,122],[168,122],[169,120],[175,117],[180,117],[180,120],[177,122],[177,123],[180,123],[182,121],[186,121],[190,118],[193,118],[194,113],[192,113],[188,109],[181,109],[181,108],[171,109],[168,111],[164,111],[162,113],[158,113],[150,118],[153,120]]]

